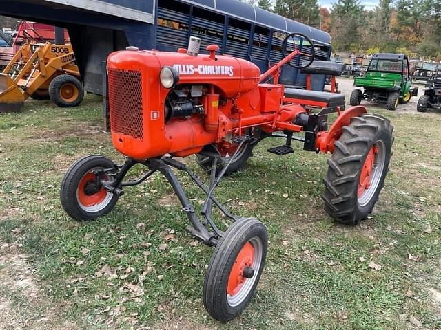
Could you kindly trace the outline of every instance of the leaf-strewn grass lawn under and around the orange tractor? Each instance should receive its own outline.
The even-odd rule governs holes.
[[[252,303],[227,324],[201,300],[213,250],[187,234],[163,177],[127,188],[97,221],[63,212],[72,162],[123,160],[101,131],[101,98],[0,115],[0,329],[441,329],[441,114],[369,111],[391,119],[396,140],[380,200],[357,227],[325,213],[328,156],[300,144],[278,157],[266,150],[280,141],[267,140],[222,182],[216,196],[263,221],[270,241]],[[198,206],[203,196],[179,177]]]

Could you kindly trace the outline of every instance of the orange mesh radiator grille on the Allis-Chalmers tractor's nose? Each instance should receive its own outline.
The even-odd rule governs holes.
[[[141,72],[109,69],[110,127],[142,140],[143,90]]]

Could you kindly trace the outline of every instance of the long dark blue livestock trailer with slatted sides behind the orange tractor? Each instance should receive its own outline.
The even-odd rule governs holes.
[[[282,58],[285,34],[300,32],[316,43],[316,58],[331,54],[326,32],[236,0],[6,0],[0,14],[68,28],[85,89],[96,94],[103,94],[107,55],[128,45],[176,51],[195,35],[203,52],[215,43],[265,71]],[[305,76],[285,65],[280,83],[305,85]],[[314,77],[313,89],[324,85],[325,76]]]

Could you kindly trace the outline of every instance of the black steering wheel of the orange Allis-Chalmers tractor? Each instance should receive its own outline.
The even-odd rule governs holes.
[[[306,42],[305,42],[306,41]],[[302,48],[299,48],[299,45],[307,46],[310,51],[309,52],[303,52]],[[314,43],[309,39],[305,34],[301,33],[291,33],[288,34],[283,40],[282,44],[282,51],[283,51],[283,57],[287,57],[292,52],[298,51],[298,55],[304,56],[307,58],[306,61],[302,61],[300,65],[295,65],[292,63],[292,61],[289,61],[288,64],[291,65],[291,67],[295,67],[296,69],[305,69],[306,67],[309,67],[314,62],[314,58],[316,56],[316,50],[314,49]],[[294,57],[294,61],[298,61],[298,57]]]

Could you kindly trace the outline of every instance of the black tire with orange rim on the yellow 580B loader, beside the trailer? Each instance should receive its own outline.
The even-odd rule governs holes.
[[[84,87],[74,76],[61,74],[50,82],[49,96],[59,107],[76,107],[83,101]]]

